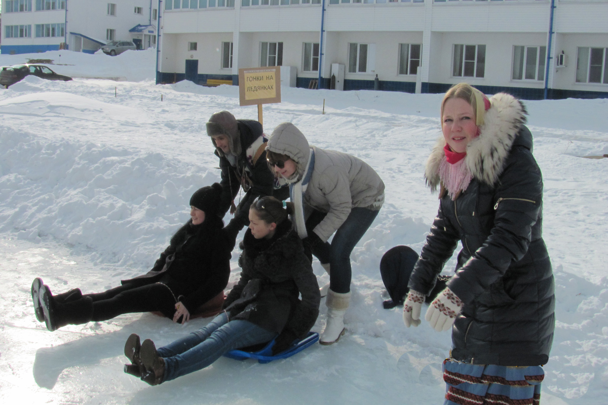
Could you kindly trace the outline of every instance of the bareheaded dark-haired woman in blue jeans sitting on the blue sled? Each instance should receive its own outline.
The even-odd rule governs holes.
[[[302,242],[291,229],[288,211],[274,197],[255,200],[241,243],[241,278],[224,310],[196,332],[156,349],[129,336],[125,372],[157,385],[201,370],[224,353],[271,341],[273,354],[306,336],[319,315],[320,293]],[[302,294],[302,301],[298,296]]]

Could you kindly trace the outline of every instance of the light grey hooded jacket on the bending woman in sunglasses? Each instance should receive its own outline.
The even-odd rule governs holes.
[[[306,137],[292,123],[282,123],[272,132],[266,151],[288,155],[297,163],[290,183],[302,180],[311,149],[313,174],[304,196],[305,217],[310,208],[327,213],[314,233],[326,242],[347,219],[352,208],[378,210],[384,202],[384,182],[370,165],[344,152],[309,146]]]

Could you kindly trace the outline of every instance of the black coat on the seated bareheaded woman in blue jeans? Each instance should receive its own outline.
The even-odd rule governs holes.
[[[224,302],[229,318],[303,338],[317,320],[321,298],[317,277],[291,222],[283,221],[272,239],[255,239],[247,230],[241,248],[241,279]]]

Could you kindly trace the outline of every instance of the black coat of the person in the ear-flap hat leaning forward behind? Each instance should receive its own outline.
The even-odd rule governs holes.
[[[262,152],[255,166],[252,157],[257,151],[250,151],[252,154],[250,156],[247,154],[247,149],[252,143],[263,136],[262,125],[254,120],[237,120],[237,124],[241,143],[241,153],[238,155],[237,165],[230,165],[228,159],[217,150],[215,154],[219,157],[219,168],[221,169],[222,195],[218,208],[220,214],[227,213],[232,201],[237,197],[241,179],[244,176],[246,177],[244,182],[250,185],[235,213],[234,220],[238,224],[238,229],[241,229],[244,225],[249,225],[249,207],[257,197],[274,196],[277,199],[285,200],[289,197],[289,189],[286,186],[275,188],[278,187],[278,183],[266,163],[266,151]]]

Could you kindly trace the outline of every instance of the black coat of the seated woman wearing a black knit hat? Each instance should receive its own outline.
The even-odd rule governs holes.
[[[217,217],[207,217],[200,225],[192,220],[171,237],[171,243],[142,276],[123,280],[134,286],[162,282],[190,313],[219,294],[230,277],[232,245]]]

